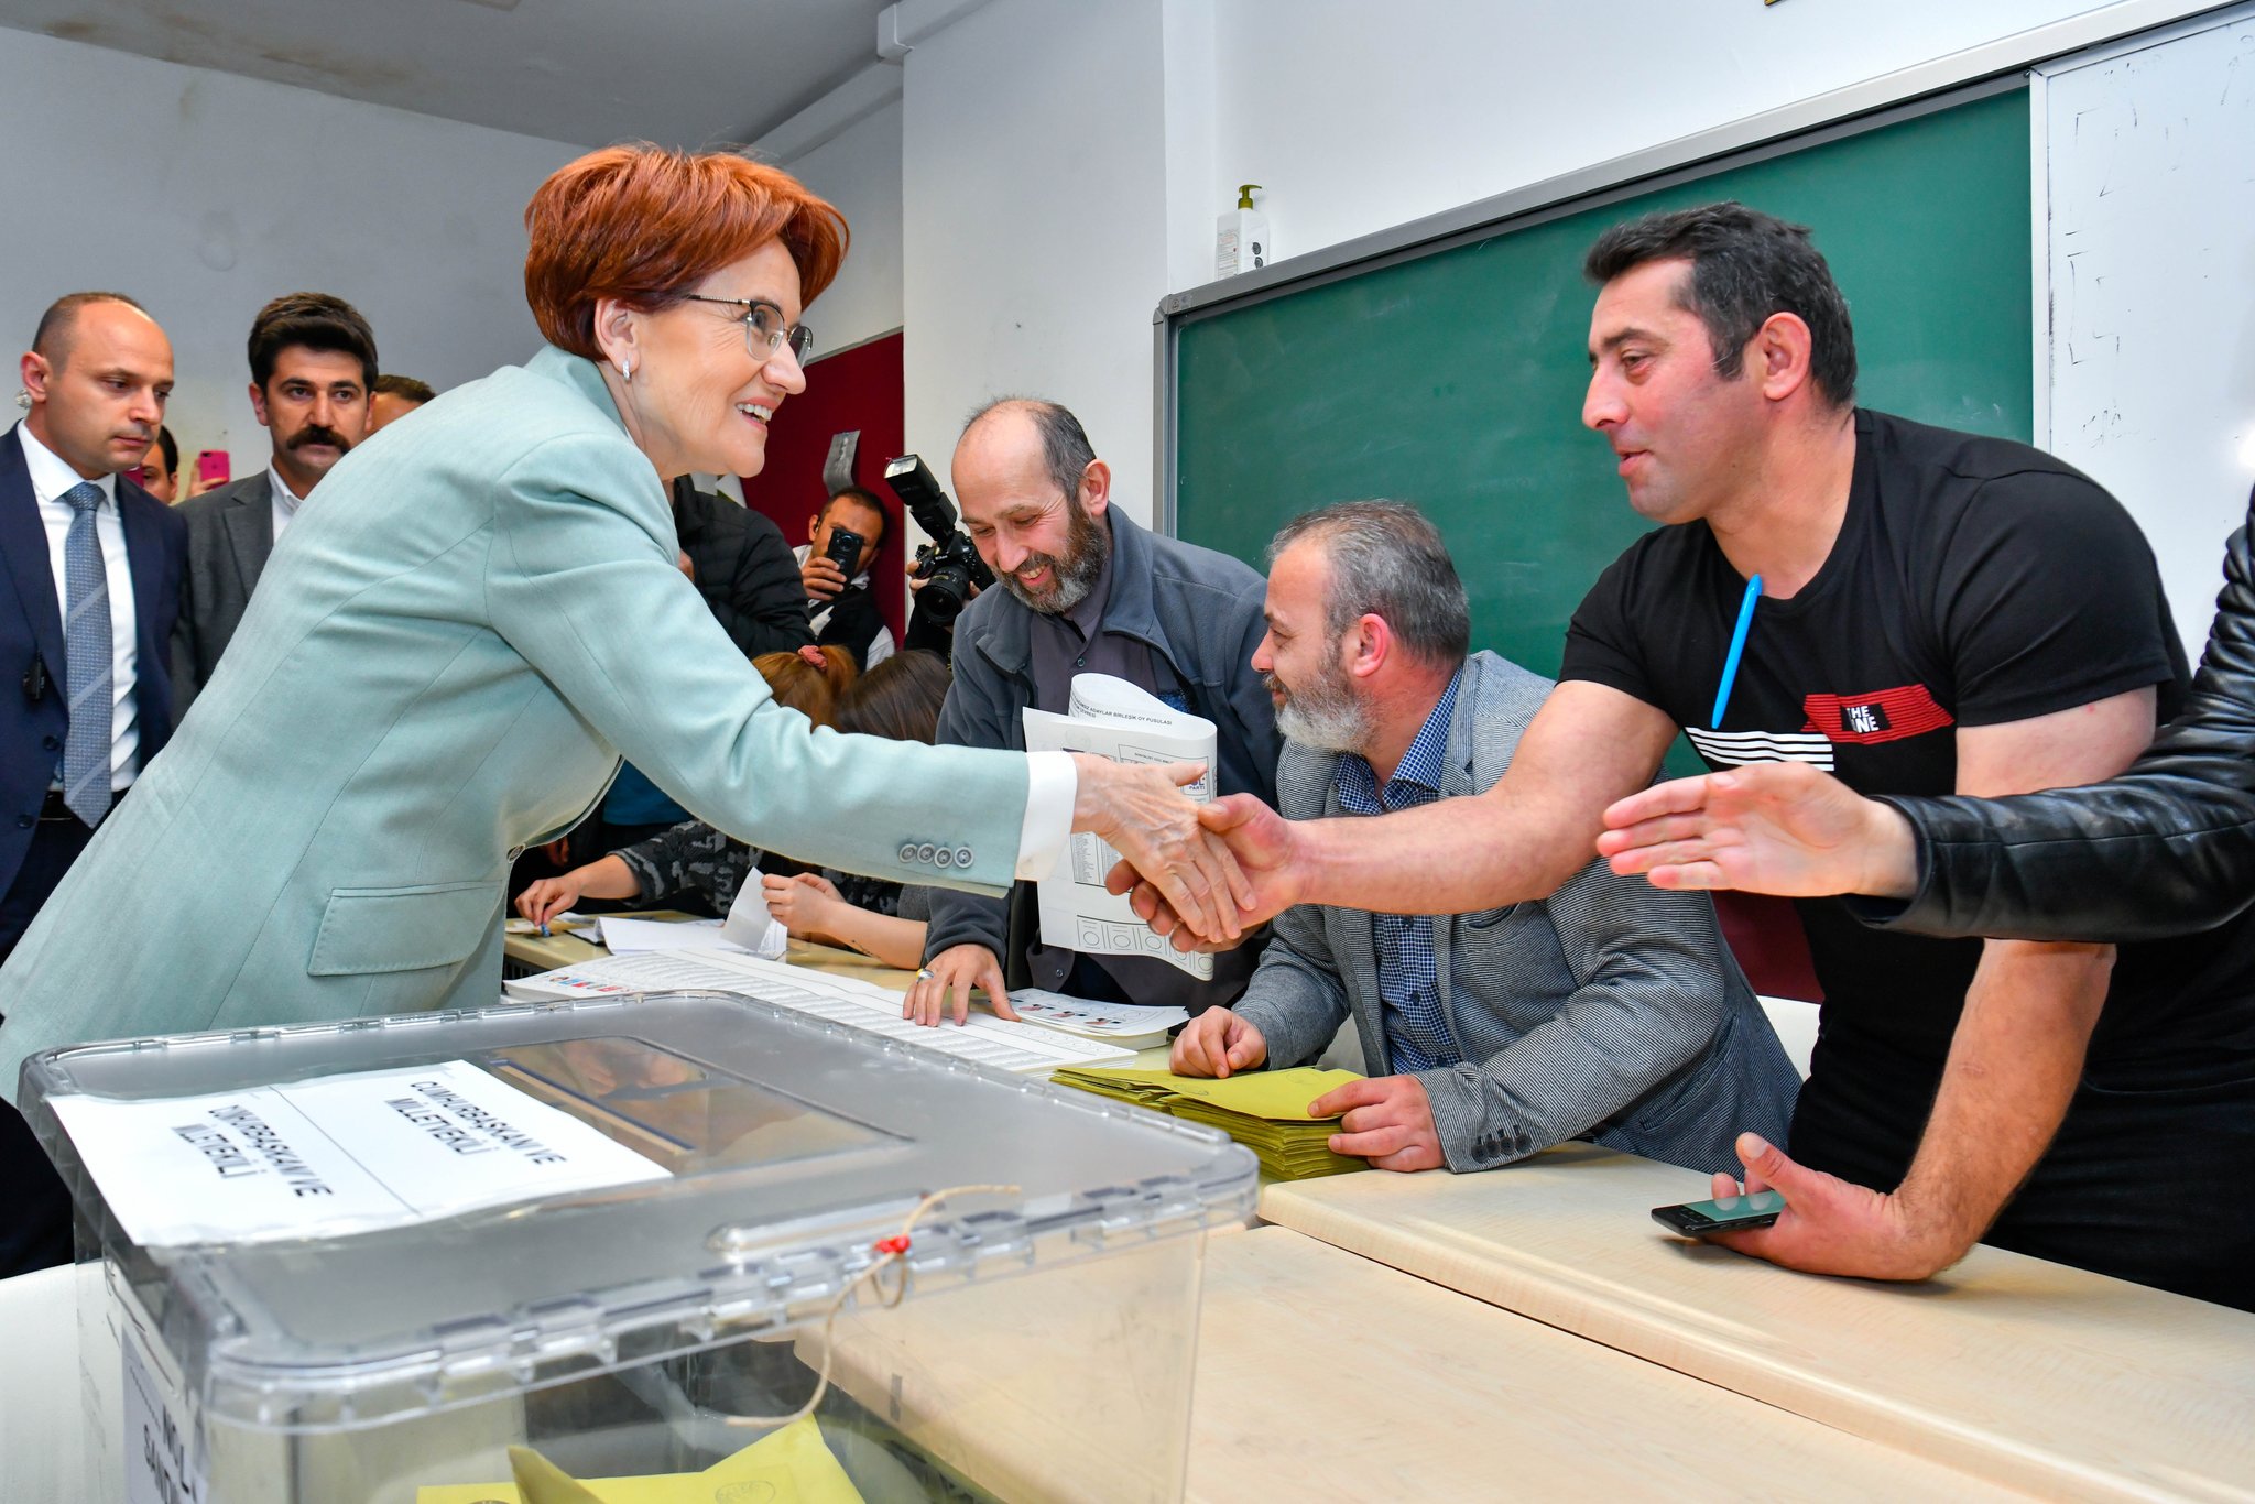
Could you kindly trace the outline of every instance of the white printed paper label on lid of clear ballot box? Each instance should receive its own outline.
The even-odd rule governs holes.
[[[212,1096],[50,1100],[142,1247],[334,1238],[665,1179],[462,1060]]]

